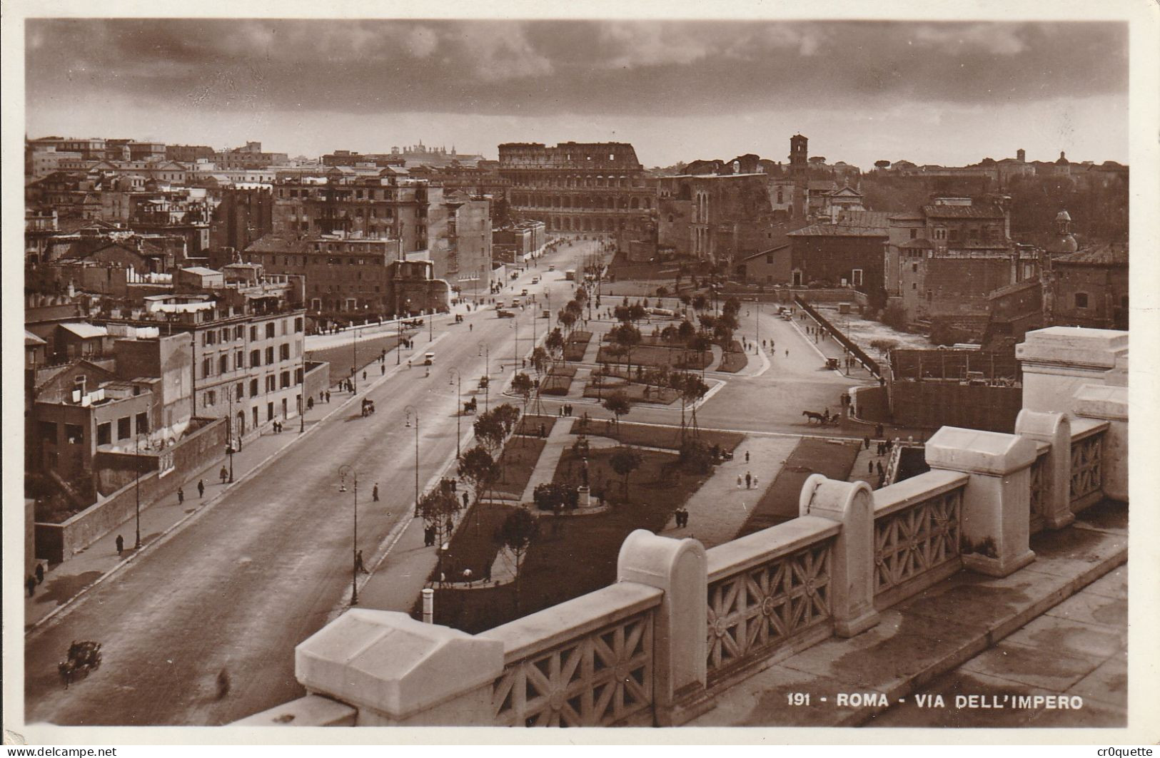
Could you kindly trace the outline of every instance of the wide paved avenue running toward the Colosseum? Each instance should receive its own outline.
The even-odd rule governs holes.
[[[558,308],[574,286],[564,282],[564,269],[579,268],[577,262],[592,246],[577,243],[542,260],[538,269],[512,283],[515,289],[505,290],[503,298],[524,286],[543,298],[548,289]],[[546,272],[549,262],[556,263],[553,274]],[[545,279],[531,285],[532,276]],[[339,467],[349,465],[358,473],[358,548],[369,557],[412,513],[414,435],[405,427],[404,409],[413,406],[421,416],[423,483],[455,454],[458,399],[448,369],[462,372],[464,395],[470,398],[490,352],[494,404],[514,358],[532,344],[531,308],[516,313],[517,319],[498,319],[485,309],[459,325],[440,319],[434,343],[426,334],[416,335],[414,367],[396,367],[387,356],[391,376],[364,395],[375,401],[376,414],[361,417],[355,401],[331,416],[37,631],[24,654],[26,720],[222,724],[302,695],[292,650],[324,626],[349,593],[354,497],[338,491]],[[539,321],[537,336],[543,336],[545,323]],[[427,350],[436,352],[429,377],[419,365]],[[332,402],[348,398],[335,393]],[[370,502],[375,482],[379,503]],[[348,490],[351,483],[347,481]],[[103,664],[66,691],[56,664],[73,640],[100,641]],[[219,700],[216,678],[223,670],[232,688]]]

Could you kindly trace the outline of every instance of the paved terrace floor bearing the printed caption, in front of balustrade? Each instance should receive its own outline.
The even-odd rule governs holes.
[[[1005,721],[1022,716],[1035,727],[1123,727],[1124,709],[1116,704],[1126,690],[1128,625],[1112,606],[1126,598],[1126,569],[1096,580],[1128,561],[1128,505],[1094,505],[1071,527],[1032,537],[1031,549],[1036,560],[1010,576],[959,571],[883,611],[862,634],[828,637],[785,656],[719,691],[715,708],[686,726],[849,727],[897,708],[875,723],[935,726],[935,719],[958,715],[978,723],[945,726],[1017,726]],[[1096,614],[1104,628],[1092,624]],[[1083,710],[970,714],[955,708],[954,697],[944,709],[912,709],[913,693],[945,699],[956,692],[964,677],[940,677],[960,665],[983,683],[964,694],[1067,692],[1083,698]],[[793,692],[810,693],[809,705],[786,706]],[[839,693],[880,693],[889,706],[840,706]]]

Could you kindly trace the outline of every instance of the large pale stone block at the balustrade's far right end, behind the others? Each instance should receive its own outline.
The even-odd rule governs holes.
[[[1072,395],[1083,385],[1117,382],[1117,364],[1128,356],[1128,333],[1114,329],[1047,327],[1023,340],[1015,357],[1023,364],[1028,410],[1071,411]]]

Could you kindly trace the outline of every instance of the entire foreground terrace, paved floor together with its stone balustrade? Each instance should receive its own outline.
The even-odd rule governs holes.
[[[798,518],[708,551],[637,531],[615,584],[478,635],[350,610],[295,651],[309,694],[238,723],[931,723],[914,698],[970,683],[1122,727],[1128,334],[1043,329],[1018,356],[1014,433],[943,428],[929,472],[878,490],[811,475]]]

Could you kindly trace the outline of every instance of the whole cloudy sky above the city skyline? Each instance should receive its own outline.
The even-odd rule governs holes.
[[[629,141],[757,153],[1128,159],[1112,22],[29,20],[30,137],[335,148]]]

